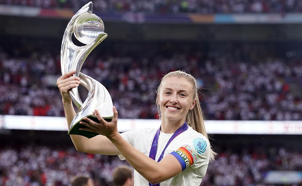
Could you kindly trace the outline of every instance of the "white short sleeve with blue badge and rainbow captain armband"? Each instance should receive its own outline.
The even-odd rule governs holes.
[[[170,154],[178,160],[182,170],[185,170],[188,166],[196,169],[209,164],[209,152],[209,141],[203,136],[184,142],[180,148]]]

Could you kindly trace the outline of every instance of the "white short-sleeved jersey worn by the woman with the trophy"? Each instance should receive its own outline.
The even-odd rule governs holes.
[[[134,148],[144,153],[149,157],[152,141],[157,129],[133,130],[122,133],[122,137],[131,144]],[[167,142],[173,134],[160,132],[157,146],[157,154],[155,160],[165,148]],[[209,164],[210,144],[208,139],[194,131],[190,126],[188,130],[182,132],[171,141],[164,152],[164,157],[167,154],[172,154],[182,166],[182,172],[164,182],[160,186],[198,186],[205,176]],[[121,160],[125,158],[119,155]],[[134,185],[149,186],[149,182],[134,170]]]

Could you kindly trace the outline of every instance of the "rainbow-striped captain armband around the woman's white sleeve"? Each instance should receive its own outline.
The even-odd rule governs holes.
[[[185,170],[188,166],[198,160],[197,153],[189,145],[184,145],[170,154],[172,154],[180,163],[181,171]]]

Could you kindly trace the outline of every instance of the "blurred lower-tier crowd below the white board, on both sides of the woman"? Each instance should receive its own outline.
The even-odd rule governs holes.
[[[302,170],[302,153],[285,148],[227,148],[210,162],[202,186],[264,186],[265,172]],[[86,154],[74,148],[23,146],[0,150],[0,185],[65,186],[74,175],[88,175],[95,185],[112,185],[112,170],[126,161],[117,156]]]

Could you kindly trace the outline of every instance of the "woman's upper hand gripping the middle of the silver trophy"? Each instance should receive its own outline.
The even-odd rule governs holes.
[[[63,102],[70,102],[71,97],[68,94],[68,91],[80,85],[80,78],[73,76],[76,71],[70,71],[64,73],[60,78],[57,79],[57,86],[62,95]]]

